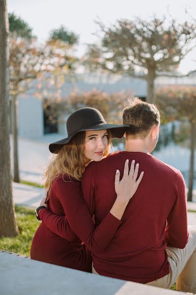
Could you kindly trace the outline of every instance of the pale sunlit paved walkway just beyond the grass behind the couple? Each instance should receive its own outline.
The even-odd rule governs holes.
[[[43,197],[43,188],[13,182],[13,198],[15,204],[37,208]],[[187,205],[188,210],[196,211],[196,202],[188,202]],[[190,225],[196,225],[196,213],[188,212],[188,223]]]

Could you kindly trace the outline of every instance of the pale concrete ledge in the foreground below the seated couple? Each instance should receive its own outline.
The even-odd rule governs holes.
[[[178,292],[112,279],[0,253],[2,295],[183,295]],[[189,293],[190,294],[190,293]]]

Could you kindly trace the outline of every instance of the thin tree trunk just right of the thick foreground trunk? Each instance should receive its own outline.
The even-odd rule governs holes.
[[[18,122],[17,122],[17,96],[12,96],[12,135],[13,135],[13,159],[14,159],[14,177],[15,182],[20,182],[18,168]]]

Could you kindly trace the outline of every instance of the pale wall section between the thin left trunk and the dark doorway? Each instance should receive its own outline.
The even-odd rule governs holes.
[[[44,135],[43,102],[27,94],[18,98],[18,132],[23,138],[38,138]]]

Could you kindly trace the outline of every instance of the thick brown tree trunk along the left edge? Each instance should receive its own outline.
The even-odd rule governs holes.
[[[7,3],[0,0],[0,236],[16,236],[17,226],[12,199],[8,124],[9,32]]]

